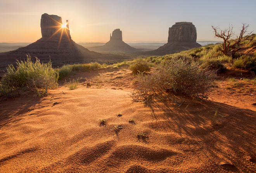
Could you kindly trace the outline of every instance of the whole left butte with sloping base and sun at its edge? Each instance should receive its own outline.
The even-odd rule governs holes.
[[[57,65],[59,65],[58,62],[63,61],[72,61],[73,63],[77,59],[85,59],[84,62],[92,61],[95,57],[102,55],[76,44],[71,39],[69,22],[66,21],[67,24],[63,25],[61,17],[43,14],[41,17],[42,38],[26,47],[1,53],[0,67],[7,66],[3,63],[13,63],[16,59],[24,59],[26,55],[30,55],[32,58],[37,57],[41,61],[49,61],[51,58]]]

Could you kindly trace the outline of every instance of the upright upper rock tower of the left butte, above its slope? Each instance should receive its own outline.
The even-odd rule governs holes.
[[[40,25],[41,25],[42,37],[60,38],[62,34],[62,37],[66,36],[71,38],[69,34],[69,29],[63,28],[63,29],[66,29],[67,32],[65,31],[62,32],[62,19],[57,15],[48,15],[46,13],[42,14]],[[67,28],[68,28],[68,25],[67,25]]]

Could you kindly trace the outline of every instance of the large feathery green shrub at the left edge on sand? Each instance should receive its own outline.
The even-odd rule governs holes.
[[[0,81],[0,94],[11,95],[19,89],[28,88],[41,95],[42,92],[47,93],[48,89],[57,88],[58,78],[51,62],[43,64],[37,58],[32,62],[31,57],[27,56],[26,61],[17,61],[17,68],[13,65],[7,67],[7,72]],[[39,89],[43,91],[40,92]]]

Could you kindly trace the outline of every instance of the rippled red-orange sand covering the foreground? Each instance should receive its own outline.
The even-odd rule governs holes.
[[[28,93],[0,102],[1,173],[256,170],[256,96],[250,83],[245,87],[251,93],[227,89],[232,82],[220,76],[210,93],[214,101],[183,97],[197,105],[175,108],[157,97],[145,104],[132,102],[134,77],[126,68],[73,77],[82,77],[75,90],[62,80],[45,97]],[[106,125],[99,124],[102,118]],[[134,123],[128,122],[131,118]],[[123,128],[114,132],[114,126]],[[138,132],[147,137],[137,137]]]

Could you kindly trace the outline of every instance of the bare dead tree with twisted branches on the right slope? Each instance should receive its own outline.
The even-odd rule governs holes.
[[[219,47],[219,51],[221,51],[226,56],[234,56],[234,54],[240,49],[239,45],[241,42],[246,41],[251,38],[252,32],[247,33],[247,28],[249,25],[242,24],[242,29],[240,31],[240,35],[236,37],[236,39],[232,39],[234,36],[233,26],[229,25],[228,29],[220,29],[219,27],[214,27],[213,32],[215,37],[223,39],[223,43],[221,43],[221,47]],[[246,34],[246,36],[244,36]]]

